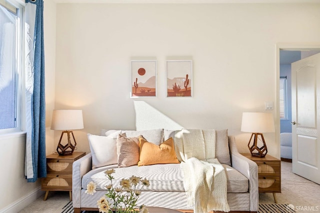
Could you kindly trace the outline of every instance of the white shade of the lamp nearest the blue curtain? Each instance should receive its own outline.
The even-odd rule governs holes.
[[[82,110],[53,110],[52,130],[83,129]]]

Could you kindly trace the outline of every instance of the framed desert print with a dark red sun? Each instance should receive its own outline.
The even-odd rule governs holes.
[[[130,97],[156,97],[156,60],[131,61]]]

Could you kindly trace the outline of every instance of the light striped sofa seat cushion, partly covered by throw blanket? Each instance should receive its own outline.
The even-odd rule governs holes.
[[[222,164],[227,177],[228,193],[243,193],[248,191],[248,179],[232,167]],[[109,185],[110,181],[105,177],[104,171],[114,169],[112,174],[113,187],[119,187],[122,179],[128,179],[132,175],[146,178],[150,182],[149,187],[144,187],[142,191],[156,192],[184,192],[183,171],[180,164],[156,164],[148,166],[131,166],[118,168],[116,164],[100,167],[89,171],[82,178],[81,186],[86,189],[86,185],[93,181],[96,183],[97,190],[105,190],[104,186]]]

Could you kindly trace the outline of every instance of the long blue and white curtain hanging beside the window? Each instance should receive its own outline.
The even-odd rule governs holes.
[[[25,0],[27,182],[46,177],[43,1]]]

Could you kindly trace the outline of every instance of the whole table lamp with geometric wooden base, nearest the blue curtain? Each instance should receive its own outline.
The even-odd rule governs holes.
[[[71,155],[75,149],[76,142],[73,132],[70,130],[83,129],[82,110],[53,110],[51,120],[52,130],[63,130],[56,148],[59,155]],[[63,134],[67,135],[67,144],[62,145]],[[71,143],[70,134],[74,144]]]

